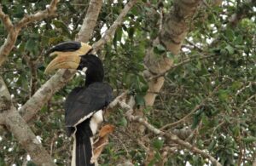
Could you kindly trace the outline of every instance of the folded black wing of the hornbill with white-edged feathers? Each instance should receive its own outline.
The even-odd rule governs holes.
[[[87,88],[73,89],[65,103],[67,127],[74,127],[90,118],[113,99],[108,83],[92,83]]]

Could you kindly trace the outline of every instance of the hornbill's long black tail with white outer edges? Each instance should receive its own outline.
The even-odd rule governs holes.
[[[73,157],[72,166],[94,166],[94,163],[90,163],[92,151],[92,140],[90,135],[83,132],[83,130],[77,130],[74,135],[73,142]]]

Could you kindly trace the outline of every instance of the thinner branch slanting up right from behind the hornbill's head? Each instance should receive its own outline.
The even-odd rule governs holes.
[[[102,49],[102,46],[103,46],[105,43],[108,43],[108,42],[112,39],[112,37],[113,37],[113,35],[114,35],[116,29],[117,29],[118,26],[122,23],[122,21],[123,21],[125,15],[130,11],[130,9],[133,7],[133,5],[134,5],[135,3],[137,3],[137,0],[131,0],[131,1],[129,1],[129,3],[127,3],[127,4],[125,5],[125,8],[121,11],[121,13],[119,14],[117,20],[115,20],[115,21],[113,22],[113,25],[110,26],[110,28],[108,29],[108,31],[106,31],[106,33],[104,34],[104,36],[103,36],[99,41],[97,41],[96,43],[93,44],[92,47],[93,47],[93,51],[94,51],[94,52],[96,52],[96,51],[99,50],[99,49]]]

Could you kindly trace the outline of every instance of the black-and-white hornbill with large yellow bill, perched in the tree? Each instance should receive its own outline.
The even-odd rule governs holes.
[[[45,73],[55,69],[76,69],[86,74],[84,87],[72,90],[65,101],[67,136],[73,136],[72,166],[92,166],[93,135],[103,121],[102,111],[113,100],[112,88],[103,83],[102,61],[90,54],[91,46],[80,42],[59,43],[49,49],[56,54]]]

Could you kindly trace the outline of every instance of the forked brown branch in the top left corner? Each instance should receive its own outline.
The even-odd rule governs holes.
[[[15,42],[20,33],[21,28],[23,28],[29,23],[38,20],[43,20],[54,15],[57,3],[58,0],[52,0],[49,4],[48,9],[45,9],[44,11],[39,11],[36,14],[24,16],[24,18],[21,19],[15,26],[12,25],[11,20],[9,20],[9,16],[3,14],[2,9],[0,9],[0,18],[1,20],[3,20],[3,24],[8,31],[8,37],[0,48],[0,66],[3,65],[3,62],[7,59],[10,51],[15,46]]]

